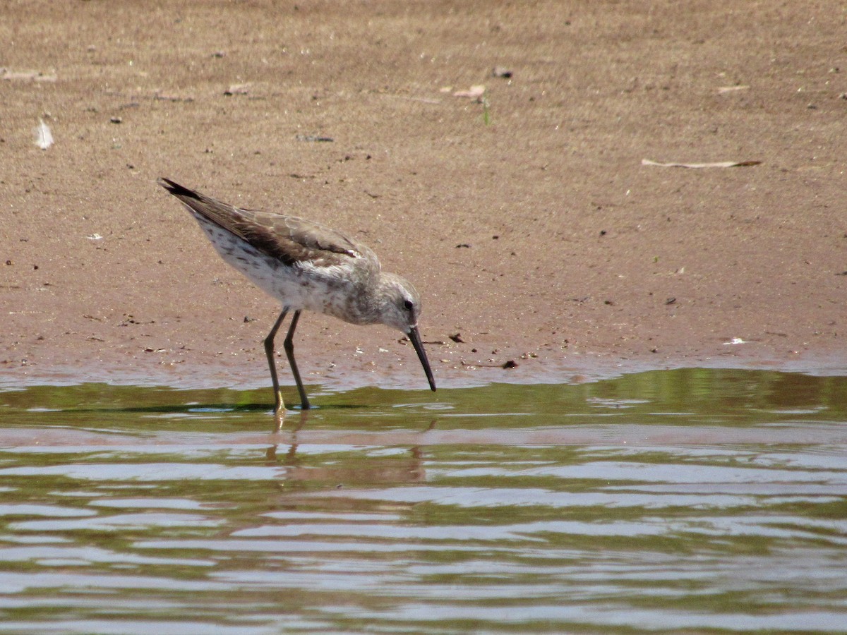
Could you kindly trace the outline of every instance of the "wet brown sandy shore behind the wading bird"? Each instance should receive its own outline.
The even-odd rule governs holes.
[[[0,384],[267,381],[275,301],[160,175],[372,246],[444,386],[847,367],[841,3],[3,14]],[[298,359],[425,389],[400,338],[307,315]]]

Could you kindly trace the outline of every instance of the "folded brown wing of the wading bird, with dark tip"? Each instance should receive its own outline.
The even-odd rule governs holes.
[[[347,258],[363,257],[367,250],[335,229],[303,218],[240,209],[170,179],[157,182],[203,218],[287,265],[308,260],[315,266],[327,267]]]

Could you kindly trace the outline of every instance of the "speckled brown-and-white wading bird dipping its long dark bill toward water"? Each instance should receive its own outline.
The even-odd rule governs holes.
[[[273,340],[289,311],[295,313],[285,351],[304,409],[309,403],[292,343],[303,310],[327,313],[354,324],[383,323],[400,329],[412,341],[429,386],[435,390],[418,335],[420,296],[406,279],[383,272],[374,251],[335,229],[303,218],[233,207],[169,179],[159,179],[158,184],[185,205],[226,262],[282,303],[283,311],[265,340],[278,422],[284,405],[276,379]]]

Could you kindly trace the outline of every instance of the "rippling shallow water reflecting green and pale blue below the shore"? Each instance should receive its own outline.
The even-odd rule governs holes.
[[[310,394],[0,390],[0,632],[847,625],[847,378]]]

